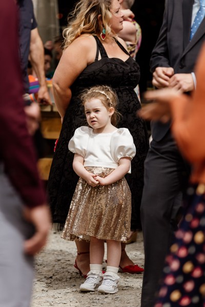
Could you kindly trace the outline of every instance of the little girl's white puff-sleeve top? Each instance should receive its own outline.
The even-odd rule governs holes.
[[[117,168],[121,158],[132,159],[136,153],[133,138],[127,128],[95,134],[92,128],[82,126],[75,130],[68,148],[84,158],[84,166],[108,168]]]

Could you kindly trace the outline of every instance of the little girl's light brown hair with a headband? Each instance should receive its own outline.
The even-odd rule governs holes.
[[[85,105],[86,101],[92,98],[97,98],[103,103],[103,105],[109,110],[110,107],[114,108],[114,113],[111,117],[111,124],[116,126],[118,121],[121,119],[121,114],[117,111],[118,98],[116,93],[107,85],[93,86],[88,90],[85,90],[81,95],[80,99],[82,104]]]

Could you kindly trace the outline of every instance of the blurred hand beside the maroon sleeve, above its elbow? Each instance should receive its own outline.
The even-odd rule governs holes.
[[[39,127],[40,107],[36,102],[32,102],[31,105],[25,106],[24,111],[26,113],[26,122],[29,134],[34,135],[35,131]]]

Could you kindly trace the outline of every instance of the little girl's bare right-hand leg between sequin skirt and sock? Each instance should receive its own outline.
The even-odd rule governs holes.
[[[109,267],[119,267],[121,257],[121,242],[114,240],[107,240],[107,261]]]

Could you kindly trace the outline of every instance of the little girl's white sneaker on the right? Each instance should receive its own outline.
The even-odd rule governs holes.
[[[103,275],[103,282],[98,288],[100,293],[111,293],[114,294],[118,291],[117,285],[119,281],[119,276],[112,272],[106,272]]]

